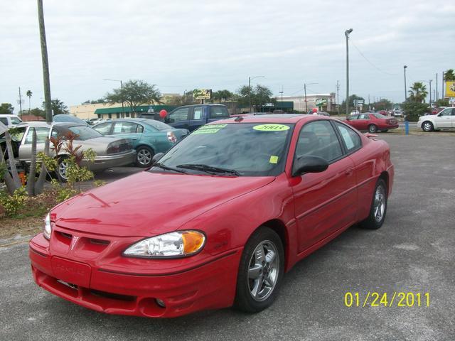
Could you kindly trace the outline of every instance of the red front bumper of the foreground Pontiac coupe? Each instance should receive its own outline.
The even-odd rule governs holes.
[[[54,234],[53,231],[51,239],[55,238]],[[34,280],[38,286],[65,300],[99,312],[152,318],[173,318],[198,310],[225,308],[234,301],[241,249],[205,257],[196,266],[191,259],[164,259],[162,262],[169,265],[168,269],[157,273],[151,267],[137,273],[137,269],[132,272],[131,268],[100,266],[104,261],[97,259],[94,250],[109,258],[110,245],[102,249],[98,244],[89,251],[90,245],[81,245],[80,241],[99,240],[94,238],[100,236],[77,237],[79,244],[74,246],[71,242],[73,246],[68,250],[62,245],[50,246],[43,234],[38,234],[29,244]],[[75,256],[77,252],[84,254],[85,259]],[[185,262],[188,266],[183,269],[181,264]],[[159,305],[157,299],[164,302],[165,307]]]

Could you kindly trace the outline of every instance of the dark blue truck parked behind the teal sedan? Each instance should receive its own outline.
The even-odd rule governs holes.
[[[193,104],[173,109],[164,121],[174,128],[193,131],[208,122],[227,118],[228,108],[223,104]]]

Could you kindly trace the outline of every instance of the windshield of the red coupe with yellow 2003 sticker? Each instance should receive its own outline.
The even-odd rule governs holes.
[[[208,124],[168,151],[159,165],[182,173],[279,175],[293,129],[293,124]],[[163,167],[151,171],[162,172]]]

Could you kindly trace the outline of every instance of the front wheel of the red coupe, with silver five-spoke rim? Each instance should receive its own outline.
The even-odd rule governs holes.
[[[235,308],[258,313],[272,305],[284,274],[284,249],[278,234],[259,227],[243,249]]]

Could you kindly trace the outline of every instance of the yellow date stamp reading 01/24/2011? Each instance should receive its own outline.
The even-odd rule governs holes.
[[[429,293],[412,293],[394,291],[393,293],[346,292],[344,305],[346,307],[429,307]]]

